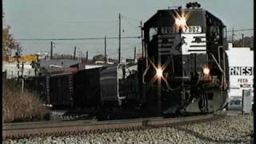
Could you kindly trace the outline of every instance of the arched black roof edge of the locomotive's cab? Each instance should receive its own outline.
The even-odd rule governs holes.
[[[178,9],[158,10],[158,12],[156,14],[154,14],[150,19],[148,19],[144,23],[144,27],[150,27],[150,26],[154,25],[154,23],[158,20],[158,18],[160,18],[162,15],[167,15],[167,14],[170,14],[170,13],[174,13],[174,10],[178,10]],[[210,18],[214,18],[214,20],[216,20],[218,23],[220,23],[221,25],[224,25],[223,22],[219,18],[214,16],[214,14],[211,14],[209,11],[204,10],[202,8],[182,9],[182,10],[184,10],[184,11],[189,11],[190,10],[192,12],[197,12],[198,14],[205,14],[206,17],[208,16]]]

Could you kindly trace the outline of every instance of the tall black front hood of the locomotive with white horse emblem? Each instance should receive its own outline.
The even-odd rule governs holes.
[[[159,10],[158,14],[156,26],[149,26],[145,34],[146,58],[157,67],[155,73],[162,70],[166,82],[188,82],[202,74],[207,63],[203,10]]]

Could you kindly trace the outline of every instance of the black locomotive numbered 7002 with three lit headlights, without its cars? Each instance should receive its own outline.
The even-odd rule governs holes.
[[[226,26],[201,8],[158,10],[144,23],[142,97],[157,115],[210,112],[226,103]]]

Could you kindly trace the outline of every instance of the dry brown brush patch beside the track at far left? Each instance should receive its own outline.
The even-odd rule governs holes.
[[[3,122],[33,122],[49,118],[50,110],[42,106],[37,94],[24,90],[14,79],[3,78]]]

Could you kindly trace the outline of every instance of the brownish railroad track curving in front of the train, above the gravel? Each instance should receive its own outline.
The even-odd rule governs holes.
[[[80,120],[67,122],[4,123],[2,138],[28,138],[33,136],[61,136],[70,134],[102,133],[118,130],[147,129],[161,126],[209,122],[225,117],[225,114],[208,114],[180,118],[138,118],[98,122]]]

